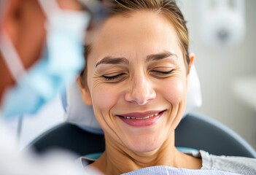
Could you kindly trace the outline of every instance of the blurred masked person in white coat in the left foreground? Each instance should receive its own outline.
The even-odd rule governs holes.
[[[88,3],[96,1],[0,1],[0,174],[95,173],[81,172],[71,153],[51,152],[39,159],[31,151],[18,152],[3,120],[35,114],[77,77],[85,64]]]

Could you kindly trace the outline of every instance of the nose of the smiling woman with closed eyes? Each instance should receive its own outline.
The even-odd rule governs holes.
[[[139,105],[147,104],[155,97],[156,93],[152,86],[152,82],[144,76],[133,78],[127,93],[125,93],[126,101]]]

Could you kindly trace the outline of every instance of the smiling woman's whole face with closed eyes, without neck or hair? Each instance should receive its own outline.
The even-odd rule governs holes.
[[[156,12],[106,20],[87,59],[85,104],[109,143],[158,149],[185,109],[187,74],[174,26]]]

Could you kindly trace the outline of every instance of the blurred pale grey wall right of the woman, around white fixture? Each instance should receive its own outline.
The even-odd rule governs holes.
[[[200,0],[180,0],[190,31],[190,52],[201,81],[197,112],[228,125],[256,149],[256,1],[245,0],[246,36],[233,47],[214,48],[200,37]]]

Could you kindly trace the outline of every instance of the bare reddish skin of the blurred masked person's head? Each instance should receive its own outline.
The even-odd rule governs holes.
[[[74,0],[58,0],[62,9],[79,10],[82,7]],[[0,21],[0,31],[4,30],[15,49],[25,69],[33,66],[39,60],[44,50],[44,23],[46,17],[37,0],[7,0],[5,11]],[[0,104],[4,90],[15,85],[0,52]]]

